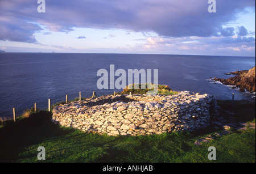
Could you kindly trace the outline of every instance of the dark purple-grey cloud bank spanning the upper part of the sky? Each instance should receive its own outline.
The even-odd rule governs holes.
[[[217,12],[208,12],[207,0],[46,0],[46,12],[37,12],[32,0],[0,1],[0,40],[36,42],[33,34],[42,30],[70,32],[73,28],[127,29],[154,31],[159,36],[232,36],[232,28],[222,25],[236,20],[254,0],[217,1]],[[30,23],[32,22],[32,23]],[[238,35],[245,36],[246,28]]]

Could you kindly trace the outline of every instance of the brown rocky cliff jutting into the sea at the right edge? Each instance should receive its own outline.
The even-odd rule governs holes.
[[[236,77],[229,79],[214,78],[214,80],[219,81],[226,85],[232,85],[240,88],[240,91],[255,92],[255,66],[250,70],[236,71],[230,74],[237,74]]]

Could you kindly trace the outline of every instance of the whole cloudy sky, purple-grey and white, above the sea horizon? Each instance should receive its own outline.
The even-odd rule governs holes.
[[[0,50],[255,56],[255,0],[0,0]]]

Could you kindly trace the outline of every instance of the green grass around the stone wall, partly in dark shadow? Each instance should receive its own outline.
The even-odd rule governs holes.
[[[221,116],[234,112],[241,121],[255,122],[255,104],[218,100]],[[136,162],[136,163],[255,163],[255,129],[234,131],[201,146],[193,143],[214,134],[208,128],[193,133],[170,133],[137,137],[112,137],[85,133],[51,122],[51,112],[27,110],[16,122],[0,128],[0,162]],[[39,146],[46,160],[38,160]],[[208,159],[208,147],[217,150],[217,160]]]

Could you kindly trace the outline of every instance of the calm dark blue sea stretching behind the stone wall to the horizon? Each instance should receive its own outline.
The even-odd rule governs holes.
[[[115,70],[158,69],[159,84],[175,91],[195,91],[217,99],[251,100],[246,93],[232,90],[210,77],[229,78],[231,71],[255,66],[255,57],[175,56],[152,54],[0,53],[0,117],[11,117],[13,108],[21,114],[27,108],[46,109],[52,103],[79,97],[113,94],[98,90],[97,71],[114,64]]]

